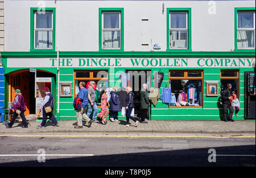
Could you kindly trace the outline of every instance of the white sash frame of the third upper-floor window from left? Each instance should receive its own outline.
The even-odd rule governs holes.
[[[171,14],[186,14],[186,28],[171,28]],[[170,11],[169,13],[169,19],[170,19],[170,22],[169,22],[169,48],[170,49],[188,49],[188,12],[187,11]],[[186,31],[187,32],[187,48],[177,48],[177,47],[171,47],[171,38],[170,38],[170,32],[171,31]],[[180,36],[180,32],[179,32],[179,36]]]

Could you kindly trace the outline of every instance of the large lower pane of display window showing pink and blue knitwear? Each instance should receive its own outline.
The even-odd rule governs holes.
[[[202,80],[171,80],[171,106],[202,106]]]

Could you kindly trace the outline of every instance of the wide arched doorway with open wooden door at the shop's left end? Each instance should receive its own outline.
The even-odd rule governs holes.
[[[43,88],[47,86],[51,93],[53,94],[53,104],[56,103],[56,75],[44,71],[36,71],[36,76],[34,72],[30,72],[29,69],[24,69],[22,71],[15,71],[10,73],[9,77],[9,93],[6,98],[7,102],[14,102],[15,90],[20,89],[24,100],[26,102],[26,111],[25,115],[35,114],[36,113],[36,99],[39,97],[43,98],[44,93],[42,92]],[[51,82],[46,83],[45,85],[40,83],[35,85],[38,78],[48,78]],[[35,93],[36,90],[36,93]],[[56,107],[53,113],[56,114]]]

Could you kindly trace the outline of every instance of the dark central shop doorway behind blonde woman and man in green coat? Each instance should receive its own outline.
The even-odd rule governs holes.
[[[139,92],[143,84],[147,84],[148,90],[151,87],[151,70],[126,70],[130,74],[129,86],[134,93],[134,117],[141,118],[141,102]],[[149,94],[149,93],[148,93]],[[147,119],[150,119],[151,106],[147,111]]]

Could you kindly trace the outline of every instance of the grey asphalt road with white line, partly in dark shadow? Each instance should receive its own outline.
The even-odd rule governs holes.
[[[0,136],[0,167],[9,166],[255,167],[255,138]]]

